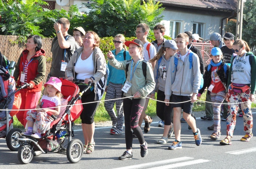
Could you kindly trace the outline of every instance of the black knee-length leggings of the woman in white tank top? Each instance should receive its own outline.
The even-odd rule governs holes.
[[[91,91],[88,95],[82,95],[81,101],[82,103],[87,102],[94,102],[95,93],[94,90]],[[83,111],[80,115],[80,118],[82,120],[82,124],[93,124],[94,122],[94,115],[96,113],[97,107],[99,106],[100,102],[94,102],[90,104],[84,104],[83,105]]]

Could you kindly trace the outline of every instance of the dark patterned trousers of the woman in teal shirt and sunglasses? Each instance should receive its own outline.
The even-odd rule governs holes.
[[[110,100],[115,98],[122,98],[122,84],[115,84],[109,82],[105,100],[104,107],[108,112],[111,120],[112,125],[116,126],[116,128],[120,131],[123,131],[123,124],[124,124],[124,109],[123,109],[123,99],[118,100]],[[116,113],[114,110],[114,104],[116,103]],[[117,114],[117,115],[116,115]]]

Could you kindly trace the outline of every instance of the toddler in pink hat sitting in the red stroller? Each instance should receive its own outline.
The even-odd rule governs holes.
[[[60,113],[60,98],[62,97],[61,84],[60,79],[57,77],[51,77],[49,81],[44,84],[44,95],[37,105],[37,110],[30,110],[27,112],[26,119],[28,130],[23,132],[22,135],[31,135],[31,137],[34,138],[41,138],[41,132],[45,128],[46,123],[53,120],[51,115],[56,116]],[[36,127],[35,134],[33,134],[34,121]]]

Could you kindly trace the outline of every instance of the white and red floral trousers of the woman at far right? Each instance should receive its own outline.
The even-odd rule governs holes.
[[[250,101],[251,88],[246,90],[244,93],[235,93],[231,85],[228,87],[228,117],[227,117],[227,135],[233,136],[234,127],[236,126],[236,116],[237,116],[237,106],[239,102],[241,103],[241,108],[243,110],[243,121],[244,121],[244,131],[247,133],[252,132],[253,128],[253,116],[251,111],[252,102]]]

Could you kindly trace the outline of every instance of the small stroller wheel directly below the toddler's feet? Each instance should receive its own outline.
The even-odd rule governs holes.
[[[32,145],[23,145],[18,151],[18,159],[22,164],[28,164],[31,162],[34,156]]]

